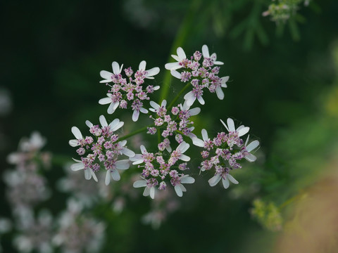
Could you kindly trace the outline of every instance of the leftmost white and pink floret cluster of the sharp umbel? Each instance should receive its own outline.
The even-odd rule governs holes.
[[[89,180],[93,177],[97,181],[96,172],[103,166],[106,169],[106,185],[113,180],[120,180],[120,174],[118,169],[128,169],[129,160],[118,160],[120,155],[127,155],[127,157],[133,157],[135,154],[132,150],[126,148],[127,141],[118,141],[118,135],[114,134],[114,131],[120,129],[123,126],[123,122],[120,119],[114,119],[111,124],[108,125],[104,115],[100,116],[99,125],[94,125],[92,122],[87,121],[89,126],[89,132],[94,136],[83,137],[80,130],[76,127],[72,127],[72,132],[76,139],[70,140],[69,144],[77,148],[76,152],[81,156],[81,160],[75,160],[70,168],[73,170],[84,169],[84,177]]]

